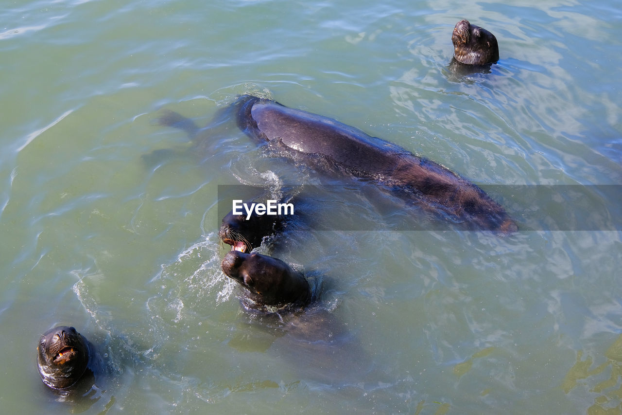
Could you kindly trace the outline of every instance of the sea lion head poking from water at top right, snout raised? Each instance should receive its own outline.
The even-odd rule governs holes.
[[[499,60],[499,45],[494,35],[468,20],[456,23],[452,33],[453,57],[466,65],[488,65]]]

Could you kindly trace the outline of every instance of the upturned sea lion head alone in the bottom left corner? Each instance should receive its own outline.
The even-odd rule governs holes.
[[[45,332],[37,346],[37,366],[50,388],[72,386],[88,366],[88,342],[73,327],[59,326]]]

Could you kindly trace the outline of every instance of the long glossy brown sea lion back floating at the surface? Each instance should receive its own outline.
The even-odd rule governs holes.
[[[476,229],[504,233],[518,229],[500,204],[439,163],[332,118],[272,100],[244,95],[236,107],[239,128],[259,143],[277,142],[311,158],[328,160],[355,177],[406,191],[424,207],[442,209]]]

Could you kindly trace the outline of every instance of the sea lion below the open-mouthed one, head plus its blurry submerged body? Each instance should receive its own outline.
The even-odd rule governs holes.
[[[366,393],[378,383],[388,384],[386,371],[374,370],[374,360],[361,348],[354,325],[333,313],[334,300],[322,303],[321,284],[313,280],[314,276],[307,282],[279,259],[235,250],[223,260],[223,271],[248,288],[241,298],[246,317],[241,317],[243,327],[230,339],[231,347],[261,353],[270,350],[279,360],[285,359],[302,371],[305,381],[320,382],[330,390]],[[241,279],[252,280],[253,286],[248,287]],[[258,284],[267,291],[258,293]],[[285,285],[290,287],[285,290]],[[275,297],[279,300],[272,301]]]

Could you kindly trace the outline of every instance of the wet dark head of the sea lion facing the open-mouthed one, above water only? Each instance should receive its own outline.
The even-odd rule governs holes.
[[[274,257],[230,250],[221,268],[225,275],[248,290],[242,298],[247,308],[266,305],[304,307],[312,298],[311,287],[304,275]]]

